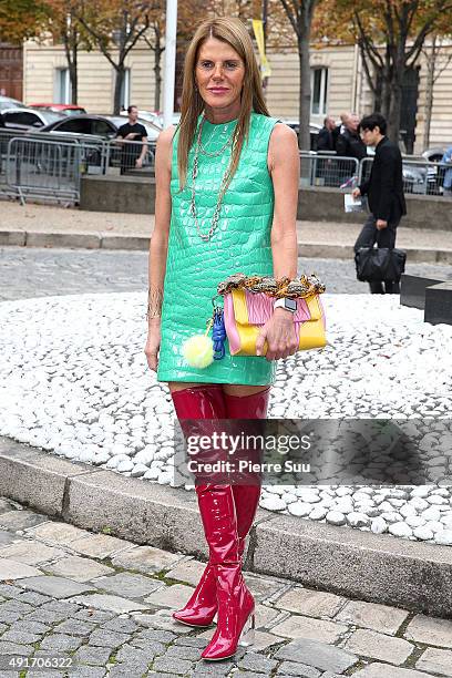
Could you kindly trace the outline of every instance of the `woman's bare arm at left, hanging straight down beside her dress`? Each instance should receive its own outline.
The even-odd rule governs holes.
[[[155,225],[148,257],[148,323],[161,319],[171,223],[171,165],[174,126],[160,133],[155,152]]]

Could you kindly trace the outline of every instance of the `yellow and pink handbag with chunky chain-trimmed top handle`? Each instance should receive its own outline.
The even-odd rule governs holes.
[[[294,314],[298,350],[323,348],[327,345],[326,318],[320,294],[325,291],[316,276],[299,280],[234,274],[217,287],[224,296],[224,323],[232,356],[256,356],[260,328],[274,312],[276,298],[297,299]],[[263,355],[268,349],[264,343]]]

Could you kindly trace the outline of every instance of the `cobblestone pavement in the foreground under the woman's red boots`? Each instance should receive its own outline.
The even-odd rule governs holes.
[[[203,567],[0,499],[0,678],[452,676],[452,622],[255,574],[255,644],[204,661],[213,628],[171,616]]]

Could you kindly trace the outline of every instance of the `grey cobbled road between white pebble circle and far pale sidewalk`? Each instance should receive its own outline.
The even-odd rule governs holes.
[[[368,292],[356,279],[353,261],[300,258],[298,271],[317,273],[329,292]],[[407,273],[450,278],[451,267],[408,264]],[[0,300],[145,289],[147,253],[0,248]]]

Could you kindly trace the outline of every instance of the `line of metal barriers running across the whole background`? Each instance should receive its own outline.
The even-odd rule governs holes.
[[[85,174],[140,174],[154,176],[155,142],[147,142],[143,163],[142,142],[105,141],[102,137],[58,136],[0,131],[0,195],[80,202]],[[361,162],[333,153],[300,152],[300,185],[347,191],[366,181],[373,157]],[[141,167],[138,165],[142,165]],[[446,166],[423,158],[403,157],[407,193],[442,195]]]

